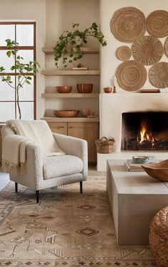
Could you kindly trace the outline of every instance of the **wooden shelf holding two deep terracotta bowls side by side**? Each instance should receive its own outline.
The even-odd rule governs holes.
[[[68,94],[59,94],[59,93],[45,93],[41,94],[41,97],[45,98],[98,98],[99,94],[90,93],[90,94],[80,94],[80,93],[68,93]]]

